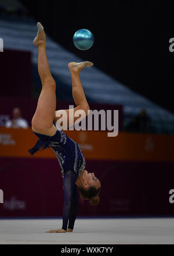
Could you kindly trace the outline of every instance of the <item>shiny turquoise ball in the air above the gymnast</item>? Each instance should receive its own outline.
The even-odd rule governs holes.
[[[88,29],[78,30],[73,37],[75,47],[82,51],[90,49],[94,40],[93,34]]]

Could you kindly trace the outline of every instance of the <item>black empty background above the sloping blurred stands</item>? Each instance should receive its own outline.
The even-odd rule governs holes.
[[[174,113],[171,1],[21,2],[63,47]],[[88,51],[73,45],[79,29],[89,29],[95,36]]]

